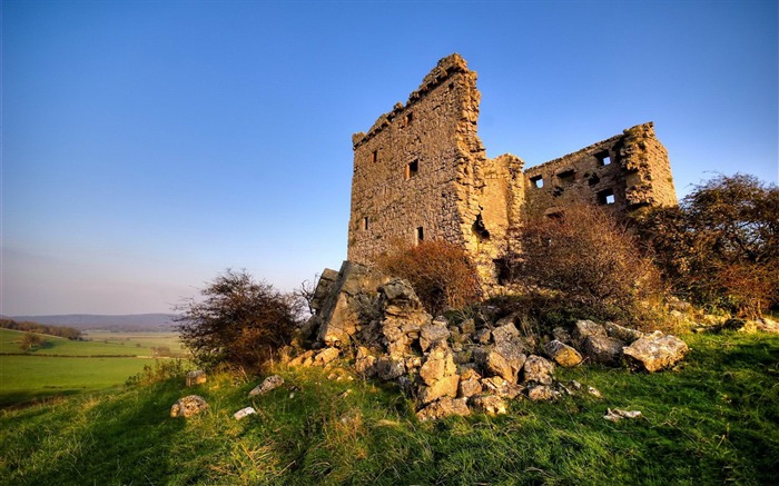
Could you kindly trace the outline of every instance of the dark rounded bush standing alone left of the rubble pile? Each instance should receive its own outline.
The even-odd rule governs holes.
[[[227,269],[200,294],[201,301],[177,306],[175,318],[184,345],[200,365],[259,366],[288,344],[298,325],[299,300],[254,281],[246,270]]]

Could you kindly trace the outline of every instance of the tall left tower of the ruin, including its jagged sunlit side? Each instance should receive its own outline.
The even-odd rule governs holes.
[[[476,73],[453,54],[405,105],[353,136],[349,260],[371,265],[421,239],[463,245],[476,260],[496,254],[493,235],[510,226],[522,162],[486,158],[476,135],[480,98]]]

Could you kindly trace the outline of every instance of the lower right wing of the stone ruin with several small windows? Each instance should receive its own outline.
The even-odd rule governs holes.
[[[556,212],[572,204],[601,205],[618,214],[677,204],[668,151],[651,122],[531,167],[525,181],[530,215]]]

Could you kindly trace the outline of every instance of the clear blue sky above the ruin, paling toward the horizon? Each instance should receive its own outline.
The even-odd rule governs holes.
[[[351,136],[438,59],[487,156],[654,121],[677,191],[777,182],[777,1],[3,1],[4,315],[165,313],[346,257]]]

